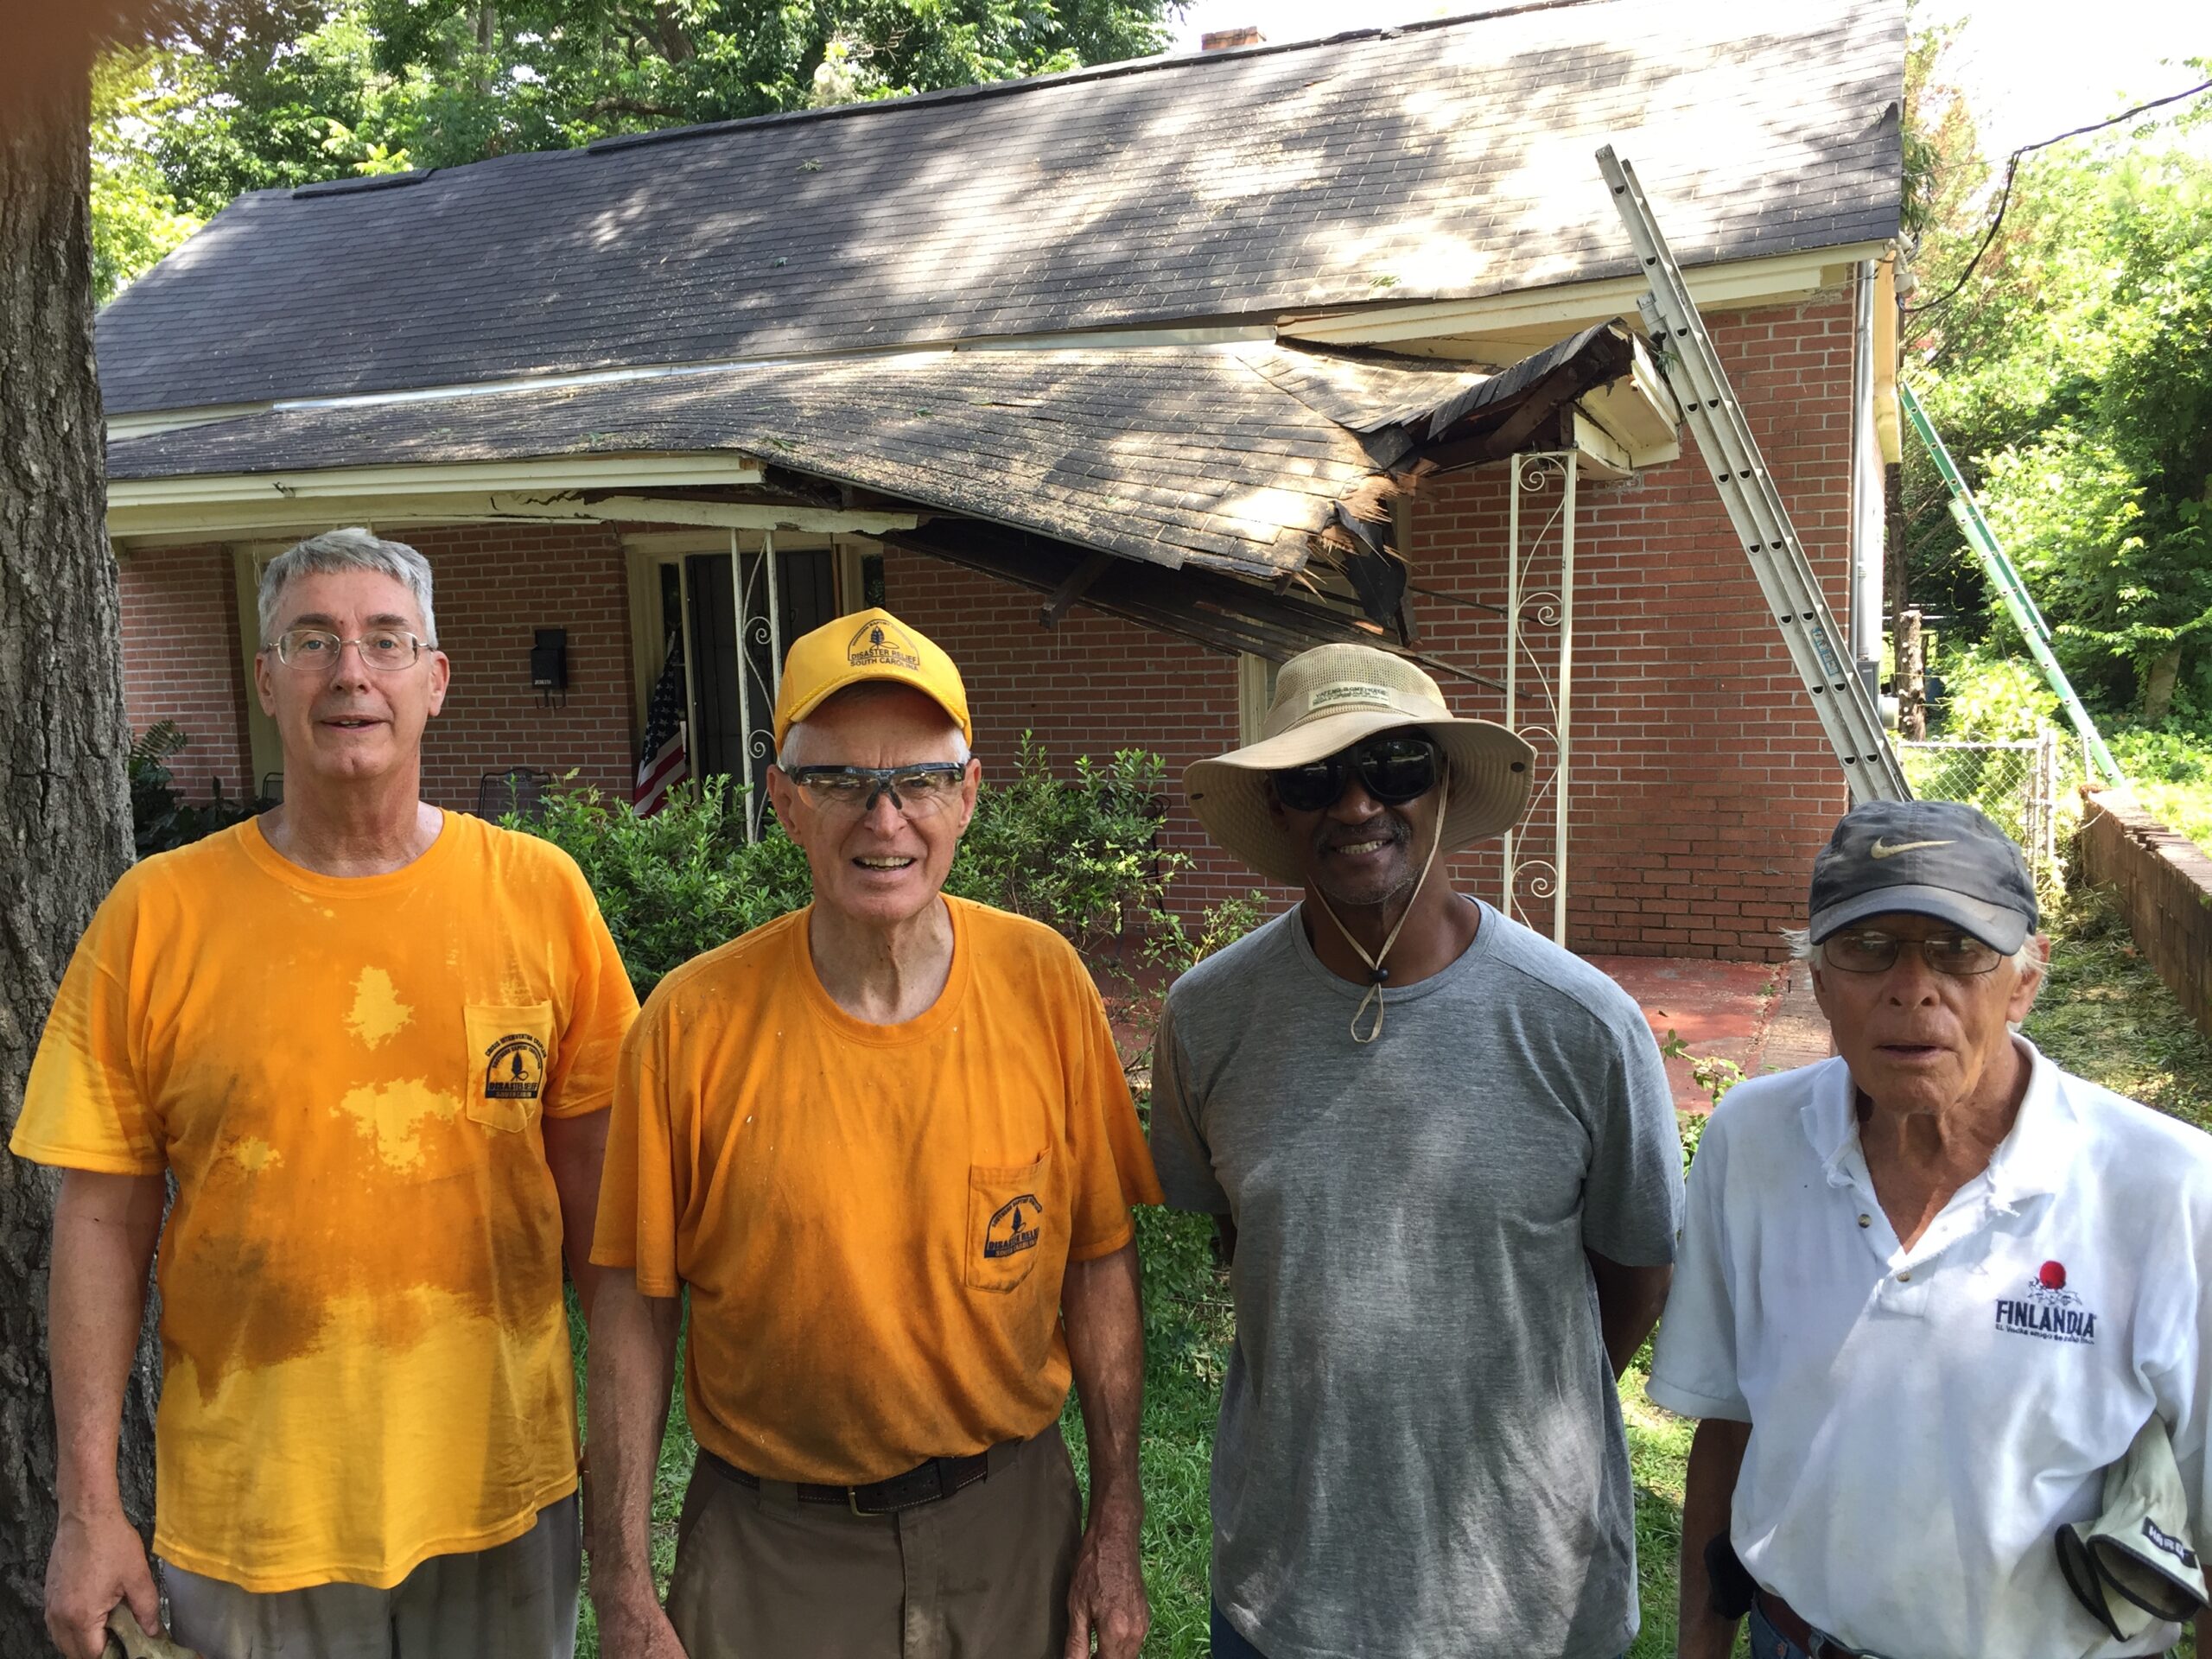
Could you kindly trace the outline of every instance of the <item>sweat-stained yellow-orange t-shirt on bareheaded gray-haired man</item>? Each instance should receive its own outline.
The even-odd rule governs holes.
[[[575,863],[460,814],[387,876],[243,823],[115,885],[11,1148],[177,1177],[159,1555],[392,1586],[575,1489],[540,1115],[608,1104],[635,1013]]]

